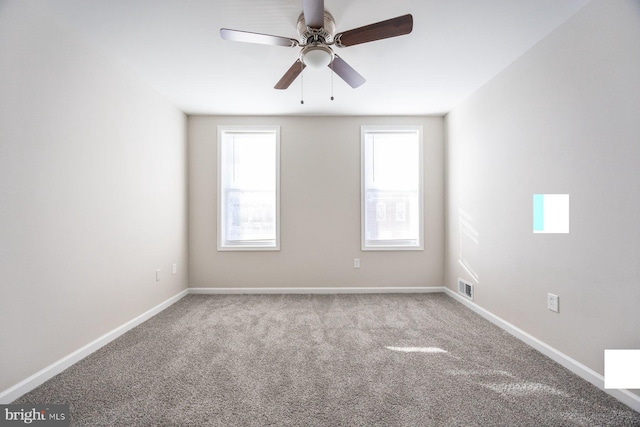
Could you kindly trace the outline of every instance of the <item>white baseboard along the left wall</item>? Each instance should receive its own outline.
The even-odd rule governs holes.
[[[31,375],[30,377],[2,391],[0,393],[0,404],[8,404],[13,402],[14,400],[18,399],[20,396],[30,392],[31,390],[38,387],[45,381],[48,381],[54,376],[58,375],[60,372],[64,371],[71,365],[79,362],[80,360],[84,359],[91,353],[109,344],[111,341],[115,340],[116,338],[118,338],[128,330],[133,329],[139,324],[152,318],[153,316],[160,313],[165,308],[176,303],[178,300],[180,300],[187,294],[189,294],[188,289],[181,291],[177,295],[158,304],[152,309],[142,313],[138,317],[128,321],[124,325],[121,325],[115,328],[111,332],[107,332],[100,338],[97,338],[94,341],[91,341],[89,344],[85,345],[84,347],[79,348],[73,353],[70,353],[67,356],[63,357],[62,359],[56,362],[53,362],[51,365],[47,366],[46,368],[39,370],[38,372]]]

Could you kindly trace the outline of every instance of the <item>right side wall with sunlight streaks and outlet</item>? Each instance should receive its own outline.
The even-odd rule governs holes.
[[[594,1],[446,117],[447,286],[462,250],[478,305],[600,374],[640,348],[639,70],[640,2]],[[570,234],[532,233],[534,193]]]

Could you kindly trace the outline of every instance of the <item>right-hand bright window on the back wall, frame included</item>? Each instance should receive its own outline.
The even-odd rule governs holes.
[[[422,127],[362,127],[362,249],[423,249]]]

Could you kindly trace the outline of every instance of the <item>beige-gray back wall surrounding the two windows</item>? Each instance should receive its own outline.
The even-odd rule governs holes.
[[[217,126],[281,127],[281,250],[216,250]],[[360,250],[360,126],[424,127],[425,250]],[[189,117],[192,287],[442,286],[441,117]],[[360,258],[361,268],[353,268]]]

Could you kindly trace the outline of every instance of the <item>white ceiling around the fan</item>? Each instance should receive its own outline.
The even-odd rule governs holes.
[[[338,32],[406,13],[406,36],[339,49],[367,82],[307,68],[273,89],[299,48],[224,41],[221,27],[297,38],[301,0],[37,0],[188,114],[443,114],[590,0],[325,0]],[[338,48],[336,48],[338,49]]]

